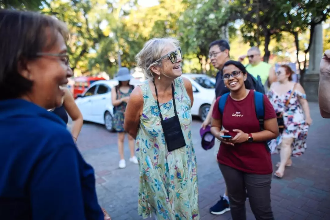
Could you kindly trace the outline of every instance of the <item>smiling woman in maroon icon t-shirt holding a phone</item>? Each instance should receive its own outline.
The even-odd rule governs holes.
[[[217,98],[211,123],[212,134],[221,141],[217,155],[221,173],[228,187],[233,220],[245,220],[246,192],[256,219],[274,219],[270,188],[273,165],[266,141],[279,134],[276,113],[264,95],[264,130],[260,130],[254,106],[254,91],[246,89],[247,71],[237,61],[227,61],[222,79],[230,90],[223,115]],[[224,130],[221,130],[222,126]],[[232,139],[222,139],[230,135]]]

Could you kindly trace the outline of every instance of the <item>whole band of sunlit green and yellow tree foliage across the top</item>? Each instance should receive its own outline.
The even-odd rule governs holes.
[[[326,0],[159,0],[144,8],[136,0],[0,0],[1,8],[40,10],[67,23],[70,64],[76,72],[113,75],[121,66],[135,67],[135,55],[153,37],[179,38],[185,72],[210,72],[208,46],[229,39],[231,58],[250,46],[264,48],[278,61],[308,53],[314,26],[329,14]],[[324,33],[324,47],[329,42]],[[310,36],[308,35],[310,34]],[[304,73],[304,67],[301,70]]]

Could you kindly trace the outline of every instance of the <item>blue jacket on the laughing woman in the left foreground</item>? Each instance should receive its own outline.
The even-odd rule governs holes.
[[[104,219],[94,170],[57,115],[0,101],[0,140],[1,220]]]

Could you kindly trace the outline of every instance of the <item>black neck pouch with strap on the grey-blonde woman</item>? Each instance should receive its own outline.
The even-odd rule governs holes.
[[[181,147],[184,147],[186,145],[186,143],[185,143],[185,140],[183,137],[179,116],[177,114],[177,108],[175,106],[173,83],[172,83],[172,98],[173,98],[173,107],[174,107],[175,116],[168,118],[166,120],[163,120],[163,115],[160,112],[160,106],[159,106],[159,102],[158,102],[158,93],[157,93],[157,88],[156,88],[154,81],[153,81],[153,84],[155,86],[155,93],[156,93],[156,97],[157,97],[157,106],[158,106],[158,110],[159,110],[160,123],[163,128],[164,138],[165,138],[165,141],[167,144],[167,149],[168,149],[168,151],[173,151],[173,150],[179,149]]]

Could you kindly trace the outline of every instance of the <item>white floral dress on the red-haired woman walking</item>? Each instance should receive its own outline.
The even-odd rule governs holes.
[[[282,138],[294,138],[291,145],[291,156],[298,157],[302,155],[307,148],[306,139],[309,126],[305,122],[304,112],[299,103],[299,98],[306,99],[306,94],[295,90],[289,104],[285,107],[287,100],[290,98],[292,89],[283,95],[278,95],[274,90],[270,90],[267,93],[276,113],[283,112],[284,120],[283,133],[280,134],[277,139],[270,141],[269,147],[272,153],[279,153]]]

